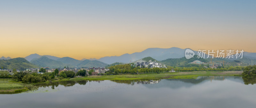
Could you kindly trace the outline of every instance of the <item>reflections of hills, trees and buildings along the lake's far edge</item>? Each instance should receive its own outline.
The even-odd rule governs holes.
[[[112,82],[116,83],[124,83],[128,85],[134,85],[134,84],[155,84],[155,85],[145,85],[148,88],[158,88],[158,87],[169,87],[169,88],[180,88],[180,87],[191,87],[193,85],[204,83],[205,81],[209,81],[212,83],[214,81],[224,81],[224,80],[230,80],[238,83],[244,83],[245,85],[248,84],[255,84],[256,83],[256,76],[246,78],[246,77],[240,77],[240,76],[199,76],[196,79],[165,79],[165,81],[161,84],[158,84],[161,82],[161,79],[137,79],[137,80],[111,80]],[[58,87],[59,85],[63,85],[65,87],[73,86],[75,84],[80,85],[86,85],[86,83],[90,83],[92,81],[63,81],[63,82],[54,82],[54,83],[41,83],[36,84],[36,86],[39,87],[51,87],[52,89],[55,89],[55,87]],[[93,81],[93,82],[101,82],[101,81]]]

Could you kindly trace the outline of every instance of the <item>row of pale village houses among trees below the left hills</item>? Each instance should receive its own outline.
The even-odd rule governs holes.
[[[86,70],[87,74],[90,70],[94,70],[94,72],[92,72],[92,75],[98,75],[98,74],[105,74],[106,71],[108,71],[109,69],[107,68],[49,68],[49,67],[43,67],[46,72],[54,72],[55,69],[59,70],[59,74],[61,71],[73,71],[75,73],[77,73],[79,70]],[[39,72],[40,68],[27,68],[27,71],[36,71]]]

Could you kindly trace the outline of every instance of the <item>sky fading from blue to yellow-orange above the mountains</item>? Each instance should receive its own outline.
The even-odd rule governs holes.
[[[255,52],[255,0],[1,0],[0,56],[101,58],[147,48]]]

